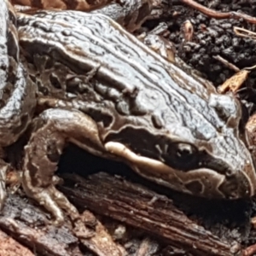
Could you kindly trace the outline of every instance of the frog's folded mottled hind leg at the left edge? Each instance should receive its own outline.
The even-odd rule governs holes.
[[[0,149],[9,146],[26,130],[36,106],[36,87],[20,63],[15,12],[9,3],[0,8]],[[8,39],[7,39],[8,38]],[[0,160],[0,207],[5,198],[8,165]]]

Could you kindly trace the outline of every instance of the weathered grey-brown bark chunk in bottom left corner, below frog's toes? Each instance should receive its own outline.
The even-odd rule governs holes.
[[[47,218],[49,214],[31,201],[9,195],[0,215],[0,229],[39,255],[83,255],[68,224],[55,227]]]

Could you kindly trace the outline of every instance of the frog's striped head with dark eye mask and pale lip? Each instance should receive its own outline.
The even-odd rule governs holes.
[[[161,121],[154,128],[124,125],[108,135],[105,147],[143,177],[172,189],[209,198],[254,195],[253,160],[239,131],[240,103],[217,94],[194,106],[192,101],[169,105],[173,112],[155,110]]]

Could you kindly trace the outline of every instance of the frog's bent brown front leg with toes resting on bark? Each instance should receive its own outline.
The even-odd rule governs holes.
[[[76,110],[50,108],[34,119],[32,125],[32,137],[25,148],[22,177],[26,194],[54,215],[55,224],[64,220],[61,209],[72,219],[79,218],[78,210],[55,189],[54,173],[67,142],[93,154],[104,154],[96,123]]]

